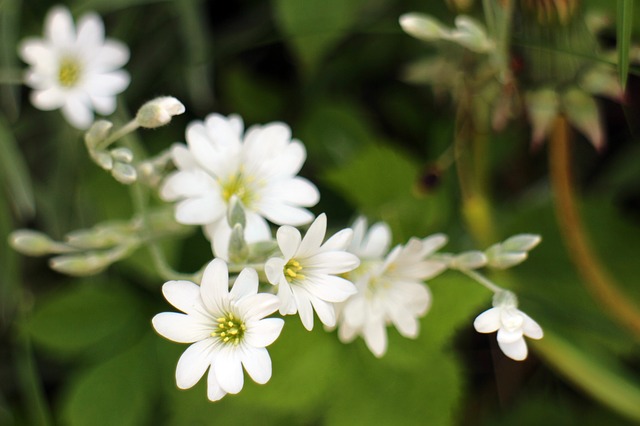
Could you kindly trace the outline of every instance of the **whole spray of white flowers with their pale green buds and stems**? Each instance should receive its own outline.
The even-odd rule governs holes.
[[[453,41],[477,52],[495,48],[470,19],[457,20],[455,29],[415,16],[406,16],[403,24],[424,39]],[[443,234],[414,237],[390,249],[389,225],[378,222],[368,228],[363,217],[331,234],[327,216],[308,210],[320,194],[298,175],[306,160],[304,145],[281,122],[245,130],[239,116],[212,113],[187,126],[186,143],[154,158],[135,158],[133,150],[112,144],[140,127],[168,124],[185,111],[184,105],[163,96],[144,104],[121,128],[107,120],[94,122],[94,111],[114,112],[115,95],[129,84],[128,74],[120,70],[128,61],[128,48],[105,39],[96,14],[81,17],[76,30],[62,7],[47,15],[44,36],[20,46],[30,65],[26,83],[33,88],[32,103],[43,110],[61,108],[73,126],[88,129],[85,144],[97,165],[134,189],[147,185],[156,190],[172,208],[168,215],[140,209],[140,217],[130,222],[72,232],[63,242],[18,231],[11,243],[27,254],[55,254],[51,266],[60,272],[89,275],[141,245],[155,244],[158,235],[202,227],[213,253],[202,273],[173,271],[158,260],[153,246],[168,280],[162,292],[180,311],[156,315],[153,327],[169,340],[190,344],[177,364],[179,388],[194,386],[207,369],[212,401],[242,389],[243,369],[256,383],[268,382],[272,369],[266,347],[284,326],[282,318],[271,317],[276,312],[298,315],[307,330],[317,316],[326,328],[338,329],[341,341],[362,337],[381,357],[388,347],[388,326],[407,338],[418,336],[420,319],[432,304],[425,280],[447,269],[468,275],[495,294],[494,307],[478,316],[474,326],[481,333],[497,331],[507,356],[524,359],[523,336],[542,337],[537,323],[517,309],[515,295],[478,272],[524,261],[538,236],[518,235],[484,252],[447,254],[438,253],[447,243]],[[307,225],[303,236],[298,227]]]

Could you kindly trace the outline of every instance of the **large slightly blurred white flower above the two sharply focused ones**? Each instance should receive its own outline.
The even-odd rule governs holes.
[[[313,214],[303,207],[315,205],[320,195],[296,176],[306,159],[302,143],[291,139],[284,123],[253,126],[244,136],[243,127],[236,115],[210,114],[187,127],[188,146],[172,147],[178,170],[165,180],[160,195],[178,202],[176,220],[205,225],[214,237],[228,228],[225,216],[235,195],[245,210],[247,240],[270,238],[265,219],[292,226],[311,222]]]

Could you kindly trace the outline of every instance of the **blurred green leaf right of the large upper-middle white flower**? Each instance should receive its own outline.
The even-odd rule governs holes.
[[[389,223],[394,237],[405,241],[442,229],[451,214],[445,187],[416,195],[419,174],[420,166],[401,150],[375,145],[329,170],[324,180],[365,215]]]

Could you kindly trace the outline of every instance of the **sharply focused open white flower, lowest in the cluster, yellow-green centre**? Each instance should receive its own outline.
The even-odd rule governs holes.
[[[184,312],[163,312],[153,318],[156,331],[169,340],[193,343],[176,369],[180,389],[195,385],[209,368],[207,395],[217,401],[242,390],[242,366],[259,384],[271,378],[266,346],[282,330],[281,318],[266,318],[278,309],[278,298],[258,293],[258,275],[244,269],[229,291],[227,264],[219,259],[207,265],[200,286],[169,281],[162,287],[166,299]]]

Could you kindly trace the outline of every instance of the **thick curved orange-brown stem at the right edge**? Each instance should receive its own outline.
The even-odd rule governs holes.
[[[571,141],[565,117],[556,119],[549,144],[549,169],[555,196],[555,211],[569,255],[584,284],[609,314],[640,338],[640,311],[620,292],[603,267],[586,235],[578,212],[571,173]]]

